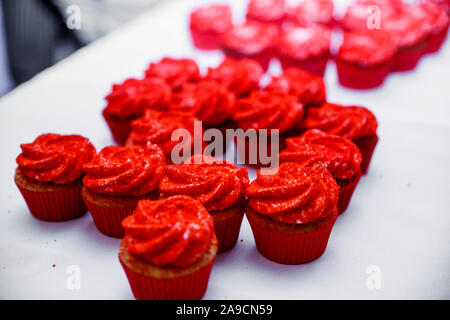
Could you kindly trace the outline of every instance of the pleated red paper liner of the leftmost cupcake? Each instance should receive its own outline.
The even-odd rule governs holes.
[[[31,191],[17,185],[31,214],[44,221],[67,221],[82,216],[87,208],[81,198],[81,185],[64,186],[58,191]]]

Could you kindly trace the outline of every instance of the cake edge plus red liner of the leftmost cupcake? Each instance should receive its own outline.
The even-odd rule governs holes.
[[[81,178],[64,185],[34,181],[16,169],[14,182],[31,214],[44,221],[67,221],[86,213],[81,198]]]

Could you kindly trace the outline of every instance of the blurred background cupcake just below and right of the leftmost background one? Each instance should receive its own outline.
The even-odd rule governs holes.
[[[273,55],[277,27],[254,21],[228,29],[222,35],[222,46],[229,58],[251,58],[256,60],[263,70],[269,67]]]

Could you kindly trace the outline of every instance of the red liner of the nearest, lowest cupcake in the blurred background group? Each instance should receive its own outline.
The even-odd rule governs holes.
[[[352,89],[373,89],[381,86],[392,66],[393,61],[372,67],[362,67],[336,59],[339,83]]]

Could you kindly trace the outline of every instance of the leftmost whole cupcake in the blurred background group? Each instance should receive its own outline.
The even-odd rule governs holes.
[[[199,49],[219,49],[220,37],[231,25],[231,8],[228,5],[204,6],[190,14],[192,41]]]

